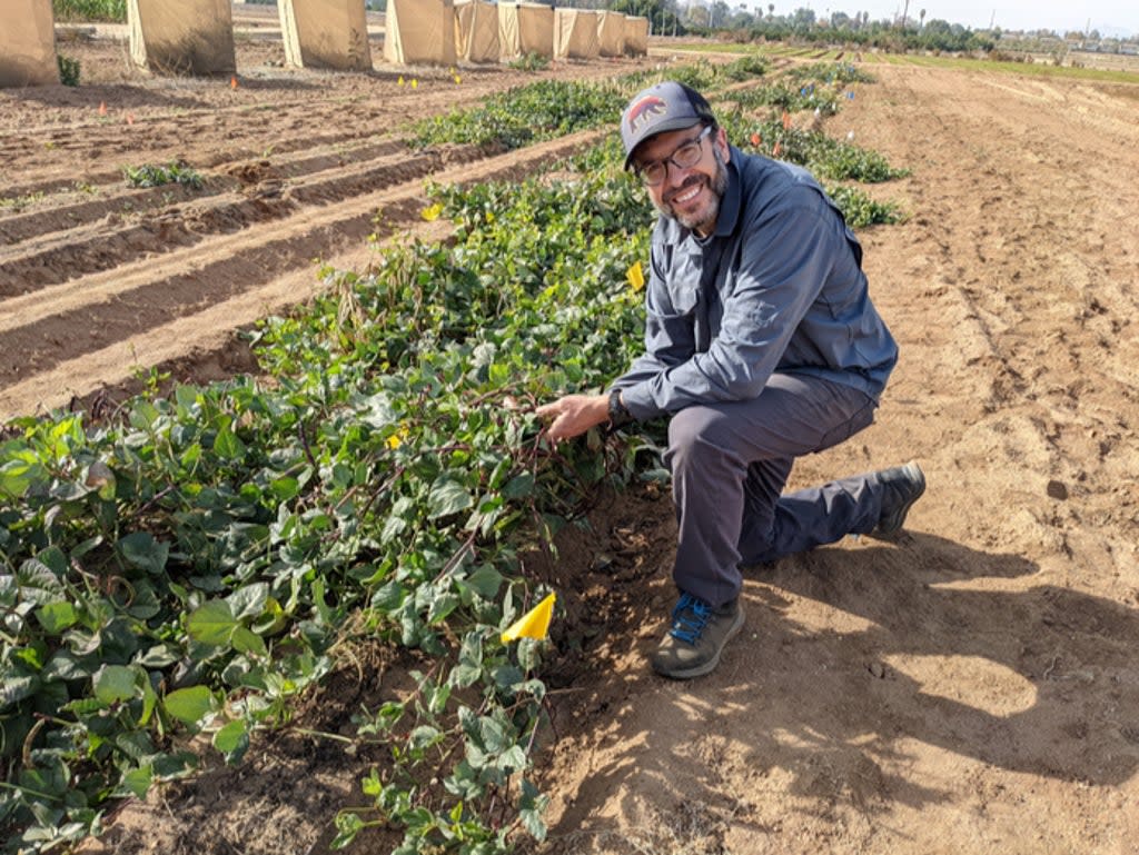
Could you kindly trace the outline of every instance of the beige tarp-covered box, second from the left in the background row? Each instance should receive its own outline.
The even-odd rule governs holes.
[[[230,0],[126,0],[131,59],[156,74],[232,74]]]

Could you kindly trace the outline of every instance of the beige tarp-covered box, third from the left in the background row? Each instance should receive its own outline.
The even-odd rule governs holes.
[[[371,71],[371,46],[359,0],[277,0],[285,63],[294,68]]]

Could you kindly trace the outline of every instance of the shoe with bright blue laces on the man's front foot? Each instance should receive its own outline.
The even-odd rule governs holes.
[[[739,600],[713,608],[691,594],[681,593],[672,609],[672,628],[653,653],[653,671],[672,680],[703,676],[720,664],[728,641],[744,626]]]

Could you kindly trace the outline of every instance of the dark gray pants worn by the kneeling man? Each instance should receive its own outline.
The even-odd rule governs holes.
[[[689,406],[669,424],[665,462],[680,536],[677,586],[722,606],[739,595],[740,565],[771,561],[874,529],[872,474],[781,495],[792,463],[874,421],[863,392],[805,375],[772,375],[759,397]]]

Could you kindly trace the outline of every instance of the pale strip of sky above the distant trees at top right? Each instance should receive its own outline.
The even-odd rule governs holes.
[[[765,2],[761,5],[767,8]],[[880,20],[901,15],[904,5],[906,0],[782,0],[776,2],[776,15],[805,6],[819,17],[834,11],[852,17],[868,11],[871,20]],[[1001,30],[1055,30],[1063,35],[1070,30],[1082,32],[1090,18],[1091,28],[1101,35],[1139,34],[1137,0],[910,0],[910,16],[916,19],[921,9],[926,20],[941,18],[970,30],[988,28],[992,22]]]

